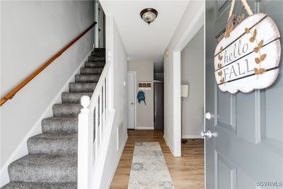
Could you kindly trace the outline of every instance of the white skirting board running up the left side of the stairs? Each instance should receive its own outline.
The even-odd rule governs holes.
[[[91,49],[91,52],[93,49]],[[6,185],[8,182],[10,182],[9,176],[8,176],[8,165],[11,164],[13,161],[16,161],[16,159],[21,158],[22,156],[25,156],[28,154],[28,146],[27,146],[27,141],[30,137],[35,136],[36,134],[42,133],[42,128],[41,128],[41,121],[44,118],[50,117],[52,115],[52,106],[54,103],[61,103],[61,95],[64,91],[68,90],[69,83],[74,81],[74,76],[79,73],[79,70],[83,66],[83,63],[86,62],[86,59],[88,58],[89,55],[91,55],[91,52],[86,55],[86,57],[83,59],[83,62],[79,65],[79,67],[74,71],[74,74],[71,75],[71,77],[68,79],[67,83],[64,84],[62,89],[57,93],[57,95],[53,98],[51,101],[50,105],[47,106],[45,109],[44,113],[40,116],[40,118],[35,122],[35,125],[30,129],[28,134],[25,135],[23,140],[18,144],[18,147],[13,151],[13,154],[7,159],[7,161],[4,163],[4,165],[1,167],[0,171],[0,188],[4,185]]]

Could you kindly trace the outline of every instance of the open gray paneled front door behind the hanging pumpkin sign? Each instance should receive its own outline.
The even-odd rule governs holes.
[[[267,13],[283,35],[283,1],[248,4],[255,13]],[[279,76],[270,88],[230,94],[216,86],[214,49],[230,6],[231,1],[206,1],[205,104],[212,118],[206,120],[205,129],[218,134],[205,139],[206,188],[283,188],[282,58]],[[236,1],[234,10],[236,16],[244,13],[247,17],[241,1]]]

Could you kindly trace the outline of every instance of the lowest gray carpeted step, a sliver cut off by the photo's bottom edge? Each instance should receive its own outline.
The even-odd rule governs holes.
[[[77,184],[72,183],[31,183],[31,182],[11,182],[4,185],[2,189],[76,189]]]

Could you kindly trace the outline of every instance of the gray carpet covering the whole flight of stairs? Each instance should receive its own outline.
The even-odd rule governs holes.
[[[105,49],[94,49],[88,61],[52,107],[53,117],[42,120],[42,134],[28,139],[28,155],[8,166],[10,183],[3,189],[77,188],[78,115],[81,96],[92,96],[105,66]]]

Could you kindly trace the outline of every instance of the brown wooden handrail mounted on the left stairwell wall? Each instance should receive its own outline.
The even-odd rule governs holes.
[[[16,86],[15,88],[13,88],[13,90],[11,90],[8,94],[6,94],[4,98],[1,98],[0,106],[6,103],[6,101],[8,101],[9,99],[13,98],[13,96],[15,96],[15,94],[18,93],[18,91],[20,91],[21,88],[23,88],[26,84],[28,84],[28,82],[34,79],[35,76],[40,74],[40,72],[46,67],[48,67],[55,59],[57,59],[57,57],[62,55],[62,53],[65,52],[69,47],[71,47],[71,45],[73,45],[77,40],[79,40],[83,35],[85,35],[88,32],[88,30],[91,30],[91,28],[93,28],[94,25],[96,25],[96,22],[94,22],[88,28],[86,28],[86,30],[84,30],[83,33],[81,33],[76,38],[74,38],[74,40],[71,40],[71,42],[69,42],[68,45],[63,47],[62,50],[59,50],[59,52],[57,52],[56,55],[48,59],[47,62],[42,64],[42,66],[39,69],[35,70],[33,74],[30,74],[30,76],[28,76],[25,80],[23,80],[21,84],[18,84],[18,86]]]

